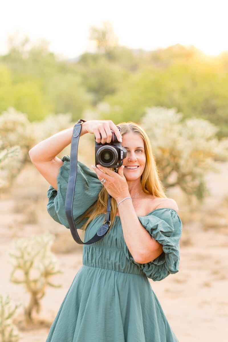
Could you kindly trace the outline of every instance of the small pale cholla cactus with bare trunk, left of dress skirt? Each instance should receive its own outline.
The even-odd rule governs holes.
[[[32,320],[32,312],[40,311],[40,300],[44,297],[47,285],[54,285],[49,278],[62,273],[55,255],[51,252],[54,236],[50,233],[32,236],[31,238],[14,239],[14,250],[9,252],[13,271],[10,280],[15,284],[24,284],[30,293],[30,301],[25,308],[26,321]],[[20,273],[16,276],[15,273]]]

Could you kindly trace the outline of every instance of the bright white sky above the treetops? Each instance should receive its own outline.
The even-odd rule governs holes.
[[[180,43],[209,54],[228,50],[224,0],[7,0],[1,2],[0,53],[7,36],[44,38],[67,58],[93,51],[89,27],[110,21],[121,45],[153,50]]]

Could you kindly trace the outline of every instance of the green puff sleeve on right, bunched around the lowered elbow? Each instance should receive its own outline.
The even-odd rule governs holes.
[[[156,259],[145,264],[136,263],[129,251],[128,259],[137,264],[143,273],[154,281],[177,273],[180,261],[179,239],[182,234],[182,222],[176,210],[159,208],[146,216],[138,216],[138,219],[149,234],[163,246],[163,252]]]

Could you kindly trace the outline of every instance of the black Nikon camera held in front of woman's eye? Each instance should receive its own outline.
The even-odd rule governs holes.
[[[119,168],[123,164],[128,152],[117,140],[116,134],[112,132],[110,143],[97,143],[95,140],[95,165],[99,164],[106,168]],[[95,137],[96,139],[96,137]]]

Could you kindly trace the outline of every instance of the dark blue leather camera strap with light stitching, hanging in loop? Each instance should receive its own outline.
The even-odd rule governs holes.
[[[103,238],[103,236],[108,232],[109,227],[111,225],[110,220],[110,211],[111,211],[111,196],[108,194],[108,203],[107,203],[107,214],[106,214],[106,221],[100,226],[94,237],[87,242],[83,242],[77,232],[77,228],[75,226],[75,221],[73,219],[73,199],[75,195],[75,185],[76,185],[76,178],[77,178],[77,163],[78,163],[78,142],[81,133],[81,121],[79,120],[73,128],[73,134],[71,139],[71,147],[70,147],[70,173],[67,185],[67,194],[66,194],[66,201],[65,201],[65,213],[67,217],[67,221],[70,227],[70,232],[73,239],[79,245],[90,245],[94,242]],[[80,200],[80,197],[78,197]]]

